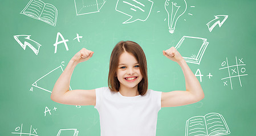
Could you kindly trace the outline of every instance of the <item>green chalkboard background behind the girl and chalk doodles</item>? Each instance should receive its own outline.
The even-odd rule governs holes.
[[[183,36],[201,37],[209,42],[200,65],[188,63],[194,74],[199,75],[200,70],[203,75],[200,83],[205,98],[195,104],[162,108],[156,135],[185,135],[189,118],[208,113],[219,113],[225,118],[230,130],[228,135],[254,134],[256,1],[186,0],[186,12],[177,20],[174,33],[169,33],[168,14],[162,0],[153,1],[147,20],[127,24],[123,22],[130,17],[116,11],[117,0],[105,2],[100,12],[85,15],[76,15],[72,0],[43,2],[58,9],[55,27],[20,14],[29,0],[1,0],[0,135],[26,135],[14,134],[21,131],[34,135],[57,135],[60,129],[77,129],[78,135],[84,136],[100,135],[99,113],[93,106],[58,104],[50,99],[50,92],[32,86],[36,80],[58,68],[36,82],[36,86],[51,91],[62,73],[61,67],[64,69],[71,57],[82,48],[90,49],[95,54],[75,68],[70,83],[72,90],[107,86],[110,54],[113,46],[121,40],[135,41],[144,49],[150,89],[162,92],[185,90],[180,66],[162,55],[162,50],[176,46]],[[221,27],[217,24],[210,32],[206,24],[216,15],[228,15],[228,18]],[[68,40],[68,50],[62,43],[54,53],[58,32]],[[80,42],[75,39],[77,33],[83,36]],[[14,39],[16,35],[31,35],[31,40],[42,45],[38,55],[29,46],[24,50]],[[188,46],[186,50],[192,50],[193,46]],[[229,66],[243,65],[230,67],[228,71],[221,69],[224,61],[228,61]],[[240,77],[241,83],[239,76],[235,76],[238,75],[234,72],[238,73],[237,70],[243,72],[240,75],[247,74]],[[229,73],[235,77],[222,80],[229,77]],[[213,76],[209,78],[209,74]],[[200,76],[197,78],[200,80]],[[51,111],[44,113],[47,108]]]

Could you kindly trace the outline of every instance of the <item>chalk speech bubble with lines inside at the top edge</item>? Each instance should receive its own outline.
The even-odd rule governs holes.
[[[136,20],[144,22],[148,19],[152,6],[153,2],[150,0],[118,0],[116,3],[116,11],[131,16],[131,18],[123,22],[123,24],[132,23]]]

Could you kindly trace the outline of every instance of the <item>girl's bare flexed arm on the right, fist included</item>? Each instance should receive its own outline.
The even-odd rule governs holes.
[[[192,73],[185,59],[174,48],[162,51],[164,56],[180,65],[185,76],[186,91],[162,92],[162,107],[176,107],[196,103],[204,98],[204,92],[196,76]]]

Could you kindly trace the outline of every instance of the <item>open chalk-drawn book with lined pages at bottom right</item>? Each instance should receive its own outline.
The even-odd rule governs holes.
[[[219,113],[208,113],[205,116],[192,117],[186,121],[186,136],[227,134],[230,134],[229,127]]]

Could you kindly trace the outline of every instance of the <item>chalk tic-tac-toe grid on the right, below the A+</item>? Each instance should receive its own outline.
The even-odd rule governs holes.
[[[233,90],[232,79],[238,78],[240,86],[242,87],[241,76],[248,75],[245,72],[246,65],[245,65],[245,62],[243,61],[243,58],[237,59],[237,57],[235,57],[235,65],[232,65],[232,66],[229,65],[229,62],[227,61],[227,58],[226,58],[226,61],[222,62],[221,66],[222,66],[222,68],[220,68],[219,70],[226,70],[228,73],[228,76],[221,79],[224,81],[223,82],[224,86],[228,86],[228,84],[230,84],[231,90]]]

